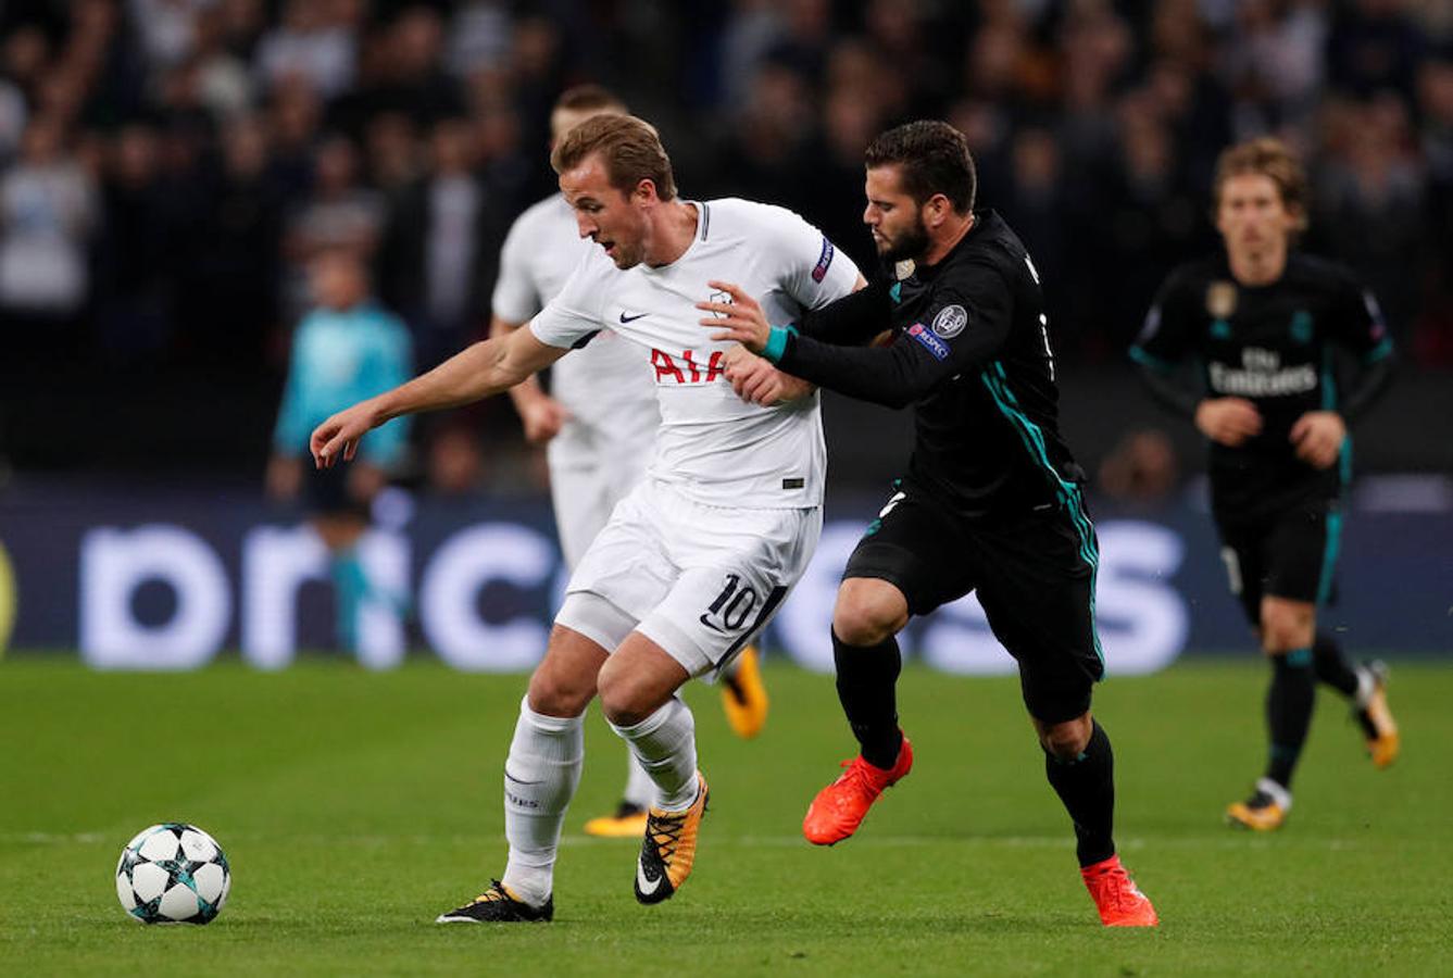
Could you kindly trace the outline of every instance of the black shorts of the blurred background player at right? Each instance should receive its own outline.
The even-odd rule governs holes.
[[[1254,626],[1261,599],[1325,605],[1332,596],[1343,513],[1337,500],[1309,498],[1245,522],[1218,520],[1231,593]]]

